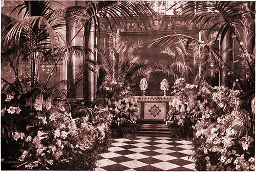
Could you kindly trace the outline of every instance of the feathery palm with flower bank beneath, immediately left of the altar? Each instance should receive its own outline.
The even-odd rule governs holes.
[[[114,115],[111,125],[114,137],[131,136],[137,132],[138,107],[132,98],[131,86],[134,79],[147,78],[151,71],[147,60],[141,60],[134,54],[142,45],[140,40],[127,44],[118,30],[111,34],[109,51],[100,54],[99,67],[105,76],[96,103],[108,108]],[[146,89],[145,82],[143,89]]]

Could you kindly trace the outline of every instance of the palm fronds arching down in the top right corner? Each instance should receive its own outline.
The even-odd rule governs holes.
[[[248,70],[251,74],[254,73],[255,58],[251,55],[255,46],[254,2],[185,2],[181,13],[186,19],[192,19],[201,29],[208,29],[208,33],[217,29],[216,40],[220,36],[221,45],[225,36],[233,36],[243,51]]]

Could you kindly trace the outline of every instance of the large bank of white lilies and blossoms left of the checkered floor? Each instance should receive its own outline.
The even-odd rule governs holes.
[[[94,169],[99,148],[104,146],[105,133],[109,130],[108,113],[95,112],[93,119],[88,116],[72,118],[61,103],[53,103],[49,113],[38,117],[43,123],[41,127],[37,130],[29,127],[26,134],[16,132],[13,136],[24,144],[18,160],[27,162],[25,169]]]

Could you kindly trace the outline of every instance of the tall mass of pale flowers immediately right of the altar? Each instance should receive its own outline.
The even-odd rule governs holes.
[[[197,85],[187,84],[184,78],[179,78],[175,81],[173,89],[166,124],[178,137],[192,137],[194,122],[191,121],[190,115],[196,111],[196,107],[202,106],[200,101],[196,100]]]

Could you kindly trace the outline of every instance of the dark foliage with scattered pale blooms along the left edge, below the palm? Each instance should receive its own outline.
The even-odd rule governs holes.
[[[19,80],[18,80],[19,79]],[[29,81],[20,76],[12,85],[22,85],[24,88]],[[47,92],[49,93],[49,92]],[[23,144],[19,139],[24,139],[27,132],[27,128],[30,126],[40,125],[41,120],[38,116],[43,114],[41,111],[37,111],[36,104],[32,102],[37,101],[40,106],[40,110],[45,111],[44,100],[38,100],[42,94],[39,90],[35,89],[35,93],[32,94],[31,90],[27,90],[25,93],[20,87],[9,87],[5,85],[2,88],[1,94],[1,144],[5,147],[2,151],[1,157],[4,160],[15,160],[20,156],[20,148]],[[45,99],[50,98],[45,95]]]

